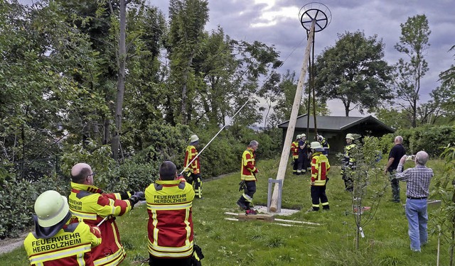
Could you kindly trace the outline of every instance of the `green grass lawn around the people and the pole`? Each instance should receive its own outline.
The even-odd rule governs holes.
[[[442,162],[430,162],[438,173]],[[276,178],[277,160],[259,161],[255,205],[267,204],[267,179]],[[382,167],[382,166],[381,166]],[[390,201],[390,186],[380,199],[378,208],[365,211],[365,238],[355,248],[355,220],[350,194],[344,192],[339,167],[333,166],[327,195],[330,211],[306,213],[311,208],[309,175],[294,176],[288,167],[284,179],[282,208],[301,209],[292,216],[276,216],[297,221],[321,223],[321,226],[284,227],[263,221],[227,221],[225,211],[240,212],[235,205],[240,196],[240,174],[228,174],[203,184],[205,199],[193,203],[196,243],[203,249],[203,265],[436,265],[437,237],[430,235],[422,253],[412,253],[407,235],[407,219],[402,204]],[[368,187],[380,190],[385,176],[373,177]],[[401,182],[405,201],[406,184]],[[365,206],[373,206],[364,199]],[[117,218],[127,259],[122,265],[141,265],[148,258],[146,250],[146,206],[137,206],[127,216]],[[432,219],[430,209],[429,218]],[[449,246],[441,245],[440,265],[449,264]],[[27,265],[23,248],[0,256],[4,265]],[[146,265],[146,263],[144,263]]]

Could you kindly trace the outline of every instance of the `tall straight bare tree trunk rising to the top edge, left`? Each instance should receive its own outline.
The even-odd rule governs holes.
[[[127,1],[120,0],[120,35],[117,62],[119,72],[117,77],[117,101],[115,102],[115,129],[112,136],[112,158],[119,158],[120,134],[122,133],[122,108],[125,91],[125,65],[127,60],[126,28],[127,28]]]

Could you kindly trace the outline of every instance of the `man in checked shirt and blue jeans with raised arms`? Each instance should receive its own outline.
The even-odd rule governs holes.
[[[425,166],[428,154],[423,150],[415,155],[415,167],[402,172],[407,155],[403,155],[397,167],[396,178],[407,182],[406,186],[406,217],[409,223],[408,233],[411,240],[411,250],[420,252],[420,247],[428,241],[427,197],[429,182],[433,177],[433,170]]]

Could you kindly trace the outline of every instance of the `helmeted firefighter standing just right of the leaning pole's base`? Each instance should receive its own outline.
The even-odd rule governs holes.
[[[330,164],[321,143],[314,141],[311,143],[311,207],[312,211],[319,211],[319,204],[322,209],[328,210],[328,199],[326,195],[326,184],[328,181],[328,171]]]

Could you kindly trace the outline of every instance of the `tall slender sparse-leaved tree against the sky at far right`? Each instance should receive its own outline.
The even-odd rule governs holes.
[[[396,65],[395,93],[397,104],[410,113],[411,126],[417,126],[417,108],[420,92],[420,81],[428,71],[428,63],[424,59],[429,48],[429,31],[427,16],[417,15],[407,18],[400,24],[400,42],[395,49],[407,55],[408,60],[400,58]]]

